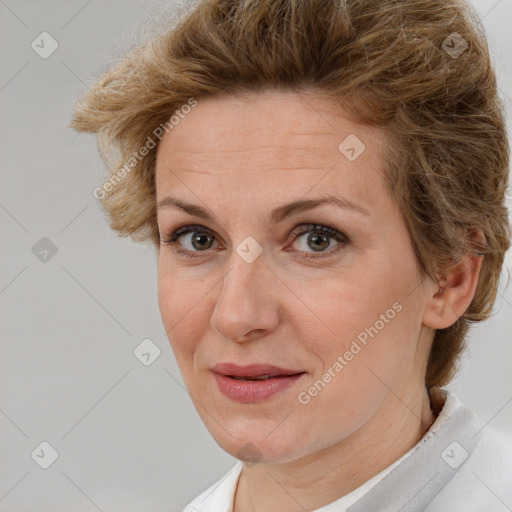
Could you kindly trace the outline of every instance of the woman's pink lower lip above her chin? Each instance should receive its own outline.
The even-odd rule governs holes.
[[[304,373],[299,373],[267,380],[237,380],[214,373],[221,393],[231,400],[243,403],[264,402],[276,393],[288,389],[303,375]]]

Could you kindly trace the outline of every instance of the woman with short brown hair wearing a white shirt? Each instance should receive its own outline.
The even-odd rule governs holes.
[[[200,2],[75,106],[239,459],[189,512],[512,507],[510,437],[443,389],[510,246],[503,106],[475,13],[427,5]]]

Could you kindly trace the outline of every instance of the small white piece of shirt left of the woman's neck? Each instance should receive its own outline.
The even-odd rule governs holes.
[[[237,463],[219,480],[194,498],[183,512],[232,512],[233,498],[243,462]]]

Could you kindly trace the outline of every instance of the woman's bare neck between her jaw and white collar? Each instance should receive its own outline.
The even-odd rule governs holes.
[[[364,426],[338,443],[285,463],[244,466],[233,511],[304,512],[328,505],[399,459],[434,420],[426,389],[406,402],[390,393]]]

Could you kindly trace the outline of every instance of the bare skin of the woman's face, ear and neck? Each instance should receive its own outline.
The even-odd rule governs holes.
[[[355,134],[366,149],[349,161],[338,146]],[[235,512],[314,510],[344,496],[409,450],[434,421],[424,372],[435,329],[451,325],[474,295],[480,258],[439,283],[419,272],[402,216],[382,177],[385,132],[343,116],[313,93],[275,91],[200,98],[162,139],[157,201],[172,195],[207,209],[205,221],[159,208],[160,236],[199,225],[158,254],[160,311],[185,384],[217,443],[237,457],[250,442]],[[368,215],[322,205],[270,223],[298,199],[343,197]],[[348,237],[326,235],[320,224]],[[248,236],[263,252],[247,263]],[[310,241],[308,243],[308,236]],[[176,246],[199,254],[186,258]],[[202,249],[204,247],[204,249]],[[202,251],[202,252],[201,252]],[[308,259],[305,254],[325,257]],[[392,305],[400,312],[307,404],[298,394],[333,367]],[[217,389],[218,362],[269,363],[307,372],[288,390],[241,404]],[[247,450],[247,447],[245,448]],[[239,457],[242,458],[242,457]]]

